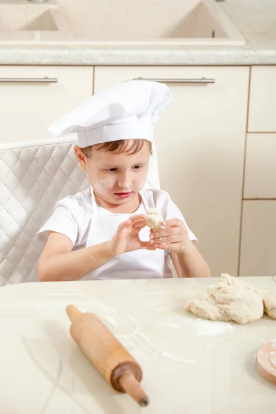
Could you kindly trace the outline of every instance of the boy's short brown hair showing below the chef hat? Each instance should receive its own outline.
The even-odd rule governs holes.
[[[103,150],[103,151],[110,151],[115,152],[115,154],[121,154],[122,152],[126,151],[126,147],[128,146],[129,139],[119,139],[118,141],[110,141],[110,142],[103,142],[103,144],[94,144],[87,147],[82,148],[83,154],[89,158],[93,148],[95,150]],[[147,139],[132,139],[132,144],[130,148],[126,151],[128,154],[136,154],[139,152],[146,142],[150,147],[150,155],[152,155],[152,143]]]

